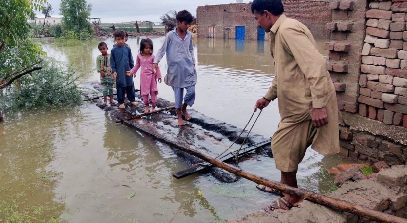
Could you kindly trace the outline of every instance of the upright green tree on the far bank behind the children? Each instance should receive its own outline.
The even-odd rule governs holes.
[[[92,5],[86,0],[62,0],[59,6],[62,14],[62,35],[68,35],[69,38],[89,38],[93,32],[89,23],[91,10]],[[73,36],[72,32],[77,36]]]

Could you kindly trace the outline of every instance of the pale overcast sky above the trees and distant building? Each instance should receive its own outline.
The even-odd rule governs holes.
[[[59,15],[61,0],[47,0],[51,4],[54,13]],[[160,16],[176,10],[186,9],[196,16],[198,6],[236,3],[236,0],[87,0],[92,4],[91,18],[101,18],[102,23],[130,22],[130,21],[153,21],[159,22]],[[243,0],[249,2],[249,0]],[[41,12],[37,17],[44,18]]]

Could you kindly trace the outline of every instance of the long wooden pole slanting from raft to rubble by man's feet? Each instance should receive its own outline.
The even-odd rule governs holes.
[[[245,179],[251,180],[255,183],[266,185],[268,187],[271,187],[273,189],[276,189],[280,192],[284,192],[290,195],[295,195],[298,197],[303,198],[304,200],[309,200],[317,204],[321,204],[327,207],[330,207],[335,210],[340,210],[340,211],[346,211],[358,216],[362,216],[364,218],[382,222],[382,223],[407,223],[407,219],[400,218],[394,215],[389,215],[386,213],[382,213],[379,211],[374,211],[371,210],[365,206],[357,205],[357,204],[352,204],[346,201],[338,200],[335,198],[331,198],[325,195],[317,194],[311,191],[307,191],[304,189],[300,188],[294,188],[287,186],[285,184],[282,184],[280,182],[272,181],[272,180],[267,180],[263,177],[256,176],[252,173],[248,173],[243,171],[242,169],[236,168],[234,166],[231,166],[227,163],[224,163],[218,159],[213,159],[205,154],[202,154],[194,149],[188,149],[185,147],[178,147],[178,149],[187,152],[191,155],[194,155],[216,167],[222,168],[230,173],[234,173],[238,176],[241,176]]]

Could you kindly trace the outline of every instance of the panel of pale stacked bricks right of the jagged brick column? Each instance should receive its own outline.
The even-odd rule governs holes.
[[[407,2],[369,1],[359,114],[407,128]]]

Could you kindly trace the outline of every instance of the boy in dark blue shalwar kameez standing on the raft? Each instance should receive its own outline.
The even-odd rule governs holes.
[[[110,55],[110,65],[113,71],[113,77],[117,77],[117,100],[119,102],[119,108],[125,108],[125,96],[127,93],[127,99],[132,105],[137,105],[136,93],[134,91],[134,82],[131,74],[126,74],[126,71],[130,70],[134,66],[133,55],[131,49],[125,46],[126,35],[122,31],[114,32],[114,40],[117,46],[113,48]]]

